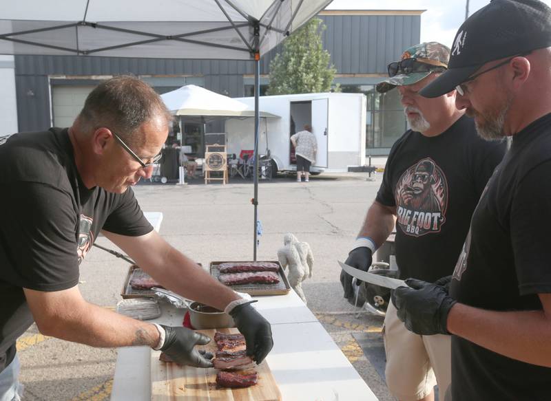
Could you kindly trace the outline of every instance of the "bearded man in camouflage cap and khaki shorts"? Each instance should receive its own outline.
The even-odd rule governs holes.
[[[503,158],[505,142],[477,136],[472,119],[455,108],[455,91],[436,99],[419,91],[446,71],[450,50],[420,43],[388,65],[380,93],[397,87],[410,129],[393,145],[375,202],[346,264],[368,270],[373,252],[396,226],[395,252],[402,279],[437,281],[453,270],[472,211]],[[342,270],[344,296],[354,302],[352,277]],[[399,400],[440,400],[448,391],[450,336],[419,336],[406,329],[390,303],[384,319],[386,384]]]

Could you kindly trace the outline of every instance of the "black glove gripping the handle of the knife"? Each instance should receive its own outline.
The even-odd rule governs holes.
[[[423,336],[450,334],[448,314],[457,301],[441,285],[416,279],[407,279],[406,284],[409,287],[398,287],[392,293],[397,316],[406,328]]]

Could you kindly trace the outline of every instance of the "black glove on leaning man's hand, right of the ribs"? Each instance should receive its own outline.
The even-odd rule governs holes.
[[[229,314],[238,330],[245,336],[247,356],[252,356],[257,365],[260,365],[273,347],[270,323],[252,307],[251,303],[237,305]]]

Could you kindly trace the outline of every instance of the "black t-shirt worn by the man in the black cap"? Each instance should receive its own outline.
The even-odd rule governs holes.
[[[450,295],[485,310],[542,310],[551,293],[551,114],[513,136],[472,215]],[[466,252],[465,250],[468,250]],[[551,369],[452,337],[454,400],[551,400]]]

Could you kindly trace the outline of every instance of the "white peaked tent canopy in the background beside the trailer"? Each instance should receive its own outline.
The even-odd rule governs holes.
[[[196,85],[185,85],[160,96],[175,116],[254,117],[255,111],[239,100],[217,94]],[[278,118],[258,111],[260,117]]]

